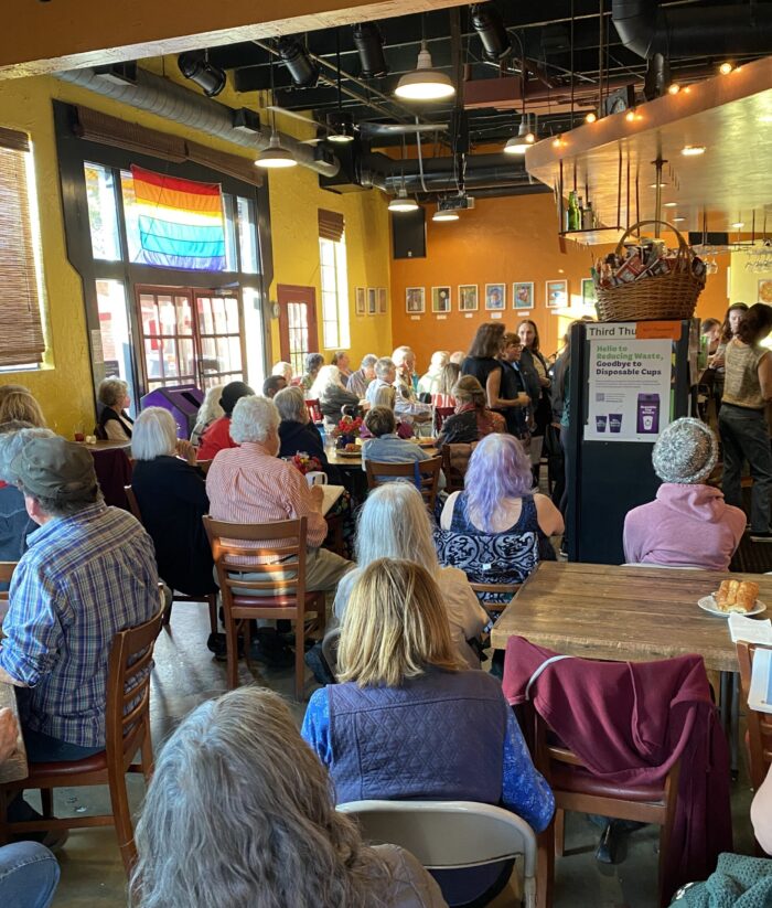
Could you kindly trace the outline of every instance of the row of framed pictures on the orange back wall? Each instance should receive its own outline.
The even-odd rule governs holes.
[[[485,285],[485,309],[490,312],[501,312],[507,308],[506,284]],[[547,309],[565,309],[569,305],[568,281],[545,281],[545,298]],[[596,302],[596,288],[591,278],[581,282],[581,301],[583,305]],[[476,284],[459,284],[459,312],[476,312],[480,308],[479,286]],[[521,281],[512,285],[512,308],[534,308],[534,282]],[[446,314],[452,309],[452,290],[450,287],[431,288],[431,312]],[[426,287],[407,287],[405,289],[405,311],[410,316],[420,316],[426,312]]]

